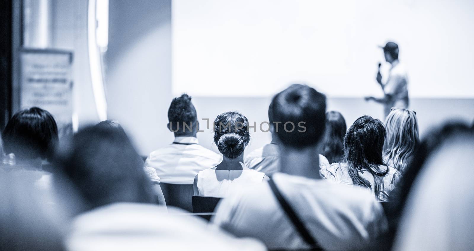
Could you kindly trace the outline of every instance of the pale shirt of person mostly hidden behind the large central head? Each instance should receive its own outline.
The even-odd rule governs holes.
[[[266,144],[249,153],[244,159],[244,164],[249,169],[271,176],[280,171],[280,149],[275,143]],[[319,166],[326,165],[329,165],[328,159],[319,154]]]

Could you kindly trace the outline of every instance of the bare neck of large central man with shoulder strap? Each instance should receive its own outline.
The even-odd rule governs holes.
[[[289,175],[320,179],[317,146],[295,149],[280,144],[280,172]]]

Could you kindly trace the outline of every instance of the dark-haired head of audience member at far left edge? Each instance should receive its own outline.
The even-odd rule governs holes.
[[[38,107],[19,111],[8,121],[2,133],[3,149],[17,159],[51,158],[58,143],[53,116]]]

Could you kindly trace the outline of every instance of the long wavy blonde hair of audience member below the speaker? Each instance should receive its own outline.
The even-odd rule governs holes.
[[[385,129],[383,159],[387,165],[403,173],[419,142],[416,112],[392,108],[385,121]]]

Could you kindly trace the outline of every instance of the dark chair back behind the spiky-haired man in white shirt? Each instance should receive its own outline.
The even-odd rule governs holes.
[[[167,206],[176,206],[192,212],[192,195],[194,189],[192,184],[170,184],[160,182],[164,200]]]

